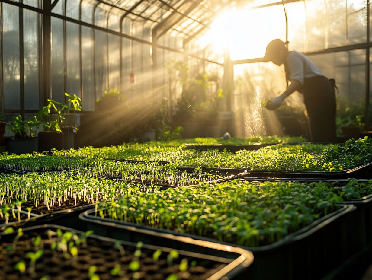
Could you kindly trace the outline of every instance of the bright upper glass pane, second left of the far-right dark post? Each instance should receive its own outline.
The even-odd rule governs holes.
[[[328,47],[346,44],[345,0],[327,0]]]

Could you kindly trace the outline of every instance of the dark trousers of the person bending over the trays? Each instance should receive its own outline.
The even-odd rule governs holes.
[[[302,88],[311,141],[336,142],[336,97],[325,77],[306,78]]]

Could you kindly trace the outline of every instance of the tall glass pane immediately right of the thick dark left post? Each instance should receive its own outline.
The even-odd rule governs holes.
[[[63,21],[52,17],[52,99],[65,102],[64,95],[64,58],[63,58]]]

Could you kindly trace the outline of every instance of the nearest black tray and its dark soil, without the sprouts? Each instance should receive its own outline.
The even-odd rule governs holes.
[[[87,279],[88,270],[90,270],[90,267],[93,265],[96,265],[96,274],[100,277],[100,279],[113,279],[114,277],[112,276],[112,269],[114,268],[115,264],[120,265],[121,269],[123,270],[122,272],[125,272],[123,274],[129,276],[129,279],[137,279],[138,277],[134,276],[135,273],[132,271],[133,269],[131,270],[129,264],[134,260],[140,264],[140,267],[137,268],[138,273],[140,274],[138,275],[139,278],[166,279],[166,277],[170,274],[185,275],[180,273],[179,269],[179,264],[182,263],[181,260],[184,258],[186,258],[189,263],[195,261],[195,268],[198,268],[193,269],[193,267],[189,267],[187,269],[188,277],[186,279],[232,279],[235,277],[235,275],[246,270],[246,268],[253,261],[251,252],[241,248],[229,248],[224,245],[199,241],[197,243],[200,247],[209,246],[217,251],[221,251],[221,254],[223,254],[223,252],[229,252],[234,257],[217,257],[213,255],[179,250],[177,251],[179,257],[173,258],[172,262],[169,263],[169,261],[166,261],[168,258],[166,256],[169,255],[173,250],[173,248],[170,248],[169,246],[163,247],[159,245],[142,244],[141,247],[138,247],[138,244],[133,242],[106,238],[95,234],[87,236],[85,242],[79,242],[80,245],[76,245],[78,248],[78,253],[74,257],[71,252],[61,252],[62,250],[58,250],[58,246],[57,250],[51,250],[51,245],[53,244],[52,242],[54,240],[54,242],[56,242],[57,237],[53,237],[54,235],[51,236],[50,232],[48,235],[48,230],[54,232],[61,230],[62,234],[63,232],[67,231],[80,236],[83,234],[83,232],[76,231],[75,229],[57,225],[33,226],[23,229],[23,235],[20,236],[19,241],[17,241],[15,247],[13,247],[13,241],[15,240],[17,232],[13,232],[11,234],[2,233],[1,241],[2,244],[4,244],[3,246],[13,247],[13,250],[10,251],[9,254],[4,252],[3,260],[1,262],[3,267],[1,267],[0,264],[0,278],[8,277],[11,274],[15,274],[15,276],[18,275],[18,277],[20,277],[20,273],[15,271],[15,264],[17,261],[24,259],[24,253],[30,249],[32,251],[36,249],[42,250],[42,256],[36,262],[36,264],[39,263],[39,269],[38,265],[36,265],[35,274],[37,275],[35,275],[33,279],[40,279],[40,277],[44,276],[45,274],[53,275],[53,277],[60,276],[62,279]],[[38,235],[41,236],[41,240],[43,240],[43,242],[40,242],[39,245],[35,245],[34,241],[32,241],[32,237],[36,237]],[[49,240],[50,238],[51,240]],[[73,242],[74,244],[75,242],[72,240],[76,239],[71,238],[66,242]],[[28,241],[30,244],[28,244]],[[83,246],[84,243],[86,244],[85,247]],[[34,249],[34,247],[36,247],[36,249]],[[4,250],[4,247],[2,249]],[[135,257],[137,250],[140,250],[141,254],[139,256],[137,254],[137,257]],[[161,251],[160,257],[158,260],[151,259],[156,250]],[[71,254],[70,258],[67,258],[69,260],[66,260],[66,254]],[[53,264],[50,264],[51,261]],[[85,263],[87,265],[84,265]],[[28,266],[31,268],[31,264],[26,263],[26,267]],[[57,267],[57,269],[55,269],[55,267]],[[174,269],[171,269],[171,267]],[[202,273],[200,273],[201,270]],[[73,271],[74,276],[71,278]],[[27,273],[28,271],[25,272]],[[152,276],[153,274],[157,274],[157,277],[154,278]],[[27,276],[29,276],[29,274]]]

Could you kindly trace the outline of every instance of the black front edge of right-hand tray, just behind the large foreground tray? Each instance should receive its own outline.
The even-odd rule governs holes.
[[[243,169],[242,169],[243,170]],[[234,174],[234,173],[229,173]],[[321,178],[321,179],[371,179],[372,178],[372,163],[360,165],[358,167],[344,171],[241,171],[235,173],[235,179],[240,178]],[[232,178],[232,177],[231,177]],[[218,181],[218,180],[217,180]]]

